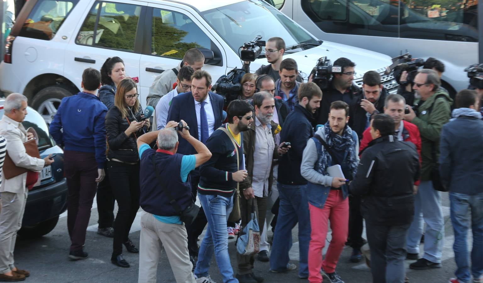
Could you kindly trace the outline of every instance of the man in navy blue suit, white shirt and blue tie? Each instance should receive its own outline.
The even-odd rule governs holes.
[[[209,91],[212,87],[211,84],[212,78],[207,71],[195,71],[191,76],[191,92],[180,94],[171,100],[168,119],[166,120],[176,122],[184,120],[190,127],[190,135],[203,143],[206,143],[208,137],[223,122],[224,99],[222,96]],[[196,154],[196,151],[191,144],[180,138],[178,153],[191,155]],[[190,172],[190,178],[193,201],[195,201],[199,183],[199,168]],[[193,224],[186,227],[188,250],[193,268],[196,265],[195,257],[198,256],[197,239],[203,232],[206,223],[205,212],[201,208]]]

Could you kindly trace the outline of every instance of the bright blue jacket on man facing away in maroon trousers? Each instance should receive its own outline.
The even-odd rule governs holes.
[[[103,169],[106,161],[106,113],[107,107],[97,96],[79,92],[62,99],[49,132],[64,150],[95,153],[98,168]]]

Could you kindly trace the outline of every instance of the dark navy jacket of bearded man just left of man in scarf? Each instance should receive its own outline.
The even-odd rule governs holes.
[[[302,154],[307,141],[313,137],[312,113],[300,104],[295,105],[282,127],[280,142],[290,142],[291,148],[279,157],[278,179],[281,184],[303,185],[307,180],[300,174]]]

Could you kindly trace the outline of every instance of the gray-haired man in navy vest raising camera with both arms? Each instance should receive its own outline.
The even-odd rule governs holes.
[[[193,203],[189,172],[208,161],[212,154],[202,142],[190,135],[185,121],[181,122],[184,128],[178,133],[194,147],[197,154],[176,153],[179,142],[174,128],[178,122],[174,121],[170,121],[162,130],[142,135],[137,141],[141,159],[140,205],[144,210],[141,216],[139,282],[156,282],[161,248],[166,250],[176,282],[196,282],[186,248],[185,225],[170,203],[171,199],[163,193],[162,186],[170,188],[171,197],[184,211]],[[156,151],[149,147],[154,140],[159,148]],[[159,183],[153,162],[165,184]]]

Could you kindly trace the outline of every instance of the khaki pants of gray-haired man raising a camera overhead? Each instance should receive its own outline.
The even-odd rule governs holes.
[[[139,250],[139,283],[156,283],[157,265],[164,247],[177,283],[196,283],[189,261],[185,225],[167,224],[142,212]]]

